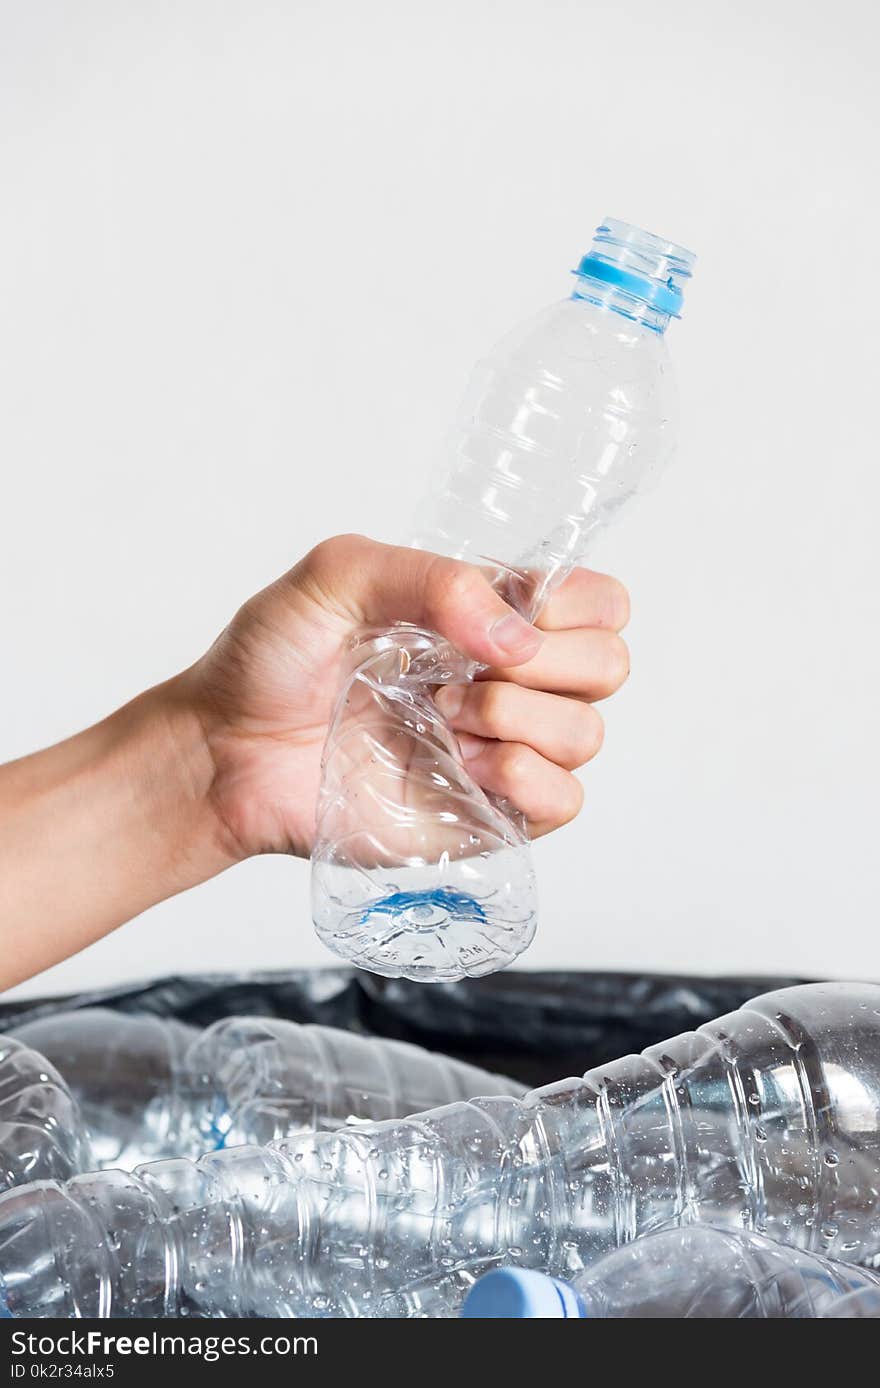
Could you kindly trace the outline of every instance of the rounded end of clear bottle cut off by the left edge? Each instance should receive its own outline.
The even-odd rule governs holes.
[[[89,1165],[82,1117],[49,1060],[0,1037],[0,1191],[67,1180]]]

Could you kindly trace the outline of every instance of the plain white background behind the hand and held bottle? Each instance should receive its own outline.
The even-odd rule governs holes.
[[[0,759],[404,539],[471,364],[605,214],[700,254],[633,675],[529,966],[880,976],[877,7],[6,0]],[[46,845],[51,872],[51,844]],[[326,963],[250,862],[26,985]]]

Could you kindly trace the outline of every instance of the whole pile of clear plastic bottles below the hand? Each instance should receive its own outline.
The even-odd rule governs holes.
[[[0,1042],[0,1159],[14,1317],[880,1316],[880,985],[529,1094],[319,1026],[62,1012]]]

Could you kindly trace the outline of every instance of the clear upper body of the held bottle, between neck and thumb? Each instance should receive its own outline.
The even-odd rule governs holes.
[[[505,595],[533,616],[593,530],[650,486],[676,421],[662,333],[582,298],[552,304],[477,364],[414,544],[502,566]]]

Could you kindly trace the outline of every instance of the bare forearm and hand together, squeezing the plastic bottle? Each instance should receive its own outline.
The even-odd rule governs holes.
[[[190,669],[0,766],[0,987],[258,854],[308,856],[348,643],[412,622],[487,666],[439,694],[472,776],[533,836],[579,812],[594,704],[629,673],[616,579],[576,570],[537,627],[480,569],[339,536],[253,597]]]

